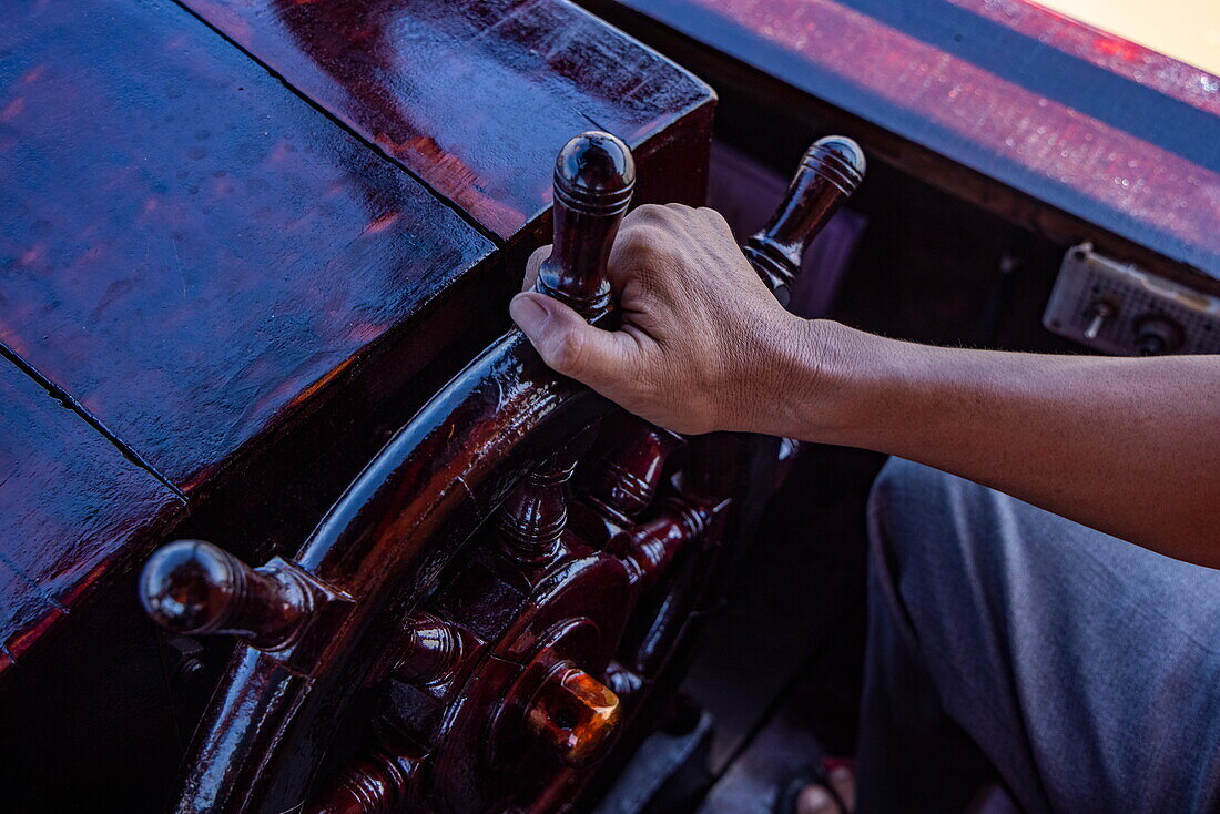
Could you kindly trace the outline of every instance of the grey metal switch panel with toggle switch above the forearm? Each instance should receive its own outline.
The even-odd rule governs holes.
[[[1108,354],[1220,353],[1220,298],[1082,243],[1064,255],[1042,323]]]

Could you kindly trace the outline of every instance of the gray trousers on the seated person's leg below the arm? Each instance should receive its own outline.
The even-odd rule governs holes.
[[[897,459],[869,514],[861,813],[988,774],[1028,814],[1220,810],[1220,571]]]

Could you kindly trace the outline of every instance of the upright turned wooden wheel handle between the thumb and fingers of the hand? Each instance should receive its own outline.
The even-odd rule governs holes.
[[[606,260],[636,188],[636,162],[620,139],[590,131],[555,159],[555,237],[534,287],[593,321],[610,309]]]

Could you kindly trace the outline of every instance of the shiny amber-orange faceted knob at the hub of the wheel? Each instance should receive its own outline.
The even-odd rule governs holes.
[[[538,688],[526,720],[565,765],[580,769],[605,754],[621,718],[619,696],[588,672],[564,663]]]

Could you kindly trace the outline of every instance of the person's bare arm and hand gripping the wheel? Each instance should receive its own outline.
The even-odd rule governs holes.
[[[539,294],[512,315],[551,366],[656,423],[910,458],[1220,566],[1220,358],[930,348],[800,320],[719,215],[682,206],[628,216],[611,283],[615,332]]]

